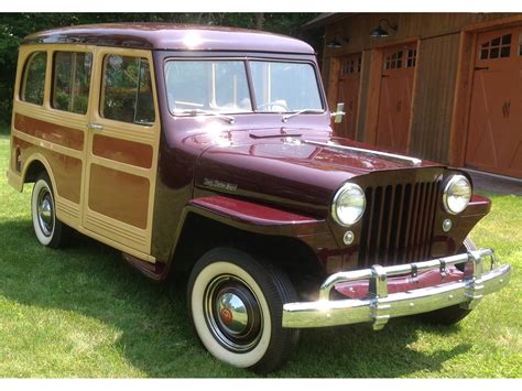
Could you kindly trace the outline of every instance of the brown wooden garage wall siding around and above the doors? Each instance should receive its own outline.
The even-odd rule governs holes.
[[[464,154],[465,132],[469,111],[470,63],[474,33],[460,32],[494,28],[499,22],[515,23],[520,14],[513,13],[359,13],[350,14],[326,26],[325,42],[340,37],[340,48],[324,48],[324,72],[328,74],[330,58],[363,52],[359,120],[357,139],[374,143],[380,97],[380,67],[383,47],[418,39],[418,67],[413,93],[410,153],[447,163],[459,164]],[[381,19],[396,24],[389,37],[372,39]],[[465,51],[464,55],[459,47]],[[433,53],[432,53],[433,51]],[[457,75],[458,87],[457,87]],[[329,78],[327,88],[330,88]],[[456,88],[457,87],[457,88]],[[333,88],[338,88],[336,85]],[[328,96],[329,90],[327,91]],[[337,94],[337,90],[336,90]],[[455,104],[454,104],[455,102]],[[464,104],[461,104],[464,102]],[[457,129],[458,128],[458,129]],[[450,139],[452,138],[452,144]],[[455,140],[455,145],[454,145]],[[448,152],[448,150],[450,152]],[[450,154],[450,156],[449,156]]]

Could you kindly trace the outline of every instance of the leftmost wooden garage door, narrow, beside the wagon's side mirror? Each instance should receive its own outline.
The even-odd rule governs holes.
[[[356,138],[361,61],[361,53],[351,54],[340,61],[337,101],[345,104],[346,116],[342,122],[336,123],[335,131],[336,135],[352,140]]]

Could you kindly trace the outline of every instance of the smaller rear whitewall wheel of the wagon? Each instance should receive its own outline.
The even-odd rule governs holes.
[[[51,248],[62,247],[68,229],[56,218],[53,186],[46,173],[41,173],[34,182],[31,195],[33,228],[40,243]]]

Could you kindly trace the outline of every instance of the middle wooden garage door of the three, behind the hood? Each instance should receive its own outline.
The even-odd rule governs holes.
[[[387,48],[383,57],[377,145],[405,153],[412,112],[416,44]]]

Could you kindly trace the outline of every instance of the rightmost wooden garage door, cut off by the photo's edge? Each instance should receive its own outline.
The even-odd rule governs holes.
[[[522,26],[479,34],[466,165],[522,178]]]

